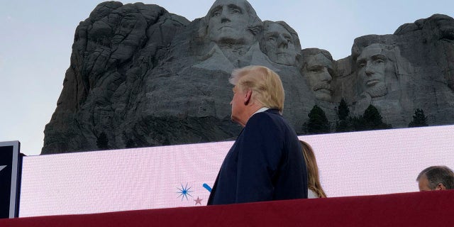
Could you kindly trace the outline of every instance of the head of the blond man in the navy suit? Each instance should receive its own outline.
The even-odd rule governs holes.
[[[284,110],[284,87],[276,72],[264,66],[251,65],[233,70],[228,80],[233,87],[232,120],[245,126],[255,111],[262,107]]]

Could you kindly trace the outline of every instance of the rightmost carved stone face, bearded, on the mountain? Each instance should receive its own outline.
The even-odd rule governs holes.
[[[387,77],[397,77],[393,57],[392,47],[381,43],[372,43],[361,50],[356,65],[362,92],[372,98],[388,93]]]

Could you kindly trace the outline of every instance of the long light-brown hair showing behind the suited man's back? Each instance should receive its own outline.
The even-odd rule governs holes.
[[[314,191],[319,196],[319,198],[325,198],[326,194],[320,184],[319,167],[317,166],[314,150],[312,150],[312,147],[311,145],[309,145],[309,143],[306,143],[302,140],[299,140],[299,143],[301,143],[304,161],[306,162],[307,167],[307,187]]]

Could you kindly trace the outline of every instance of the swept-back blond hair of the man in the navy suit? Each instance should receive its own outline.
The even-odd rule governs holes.
[[[269,68],[250,65],[236,69],[228,81],[243,92],[252,90],[251,99],[258,101],[262,106],[277,109],[279,114],[284,111],[285,93],[282,81],[279,75]]]

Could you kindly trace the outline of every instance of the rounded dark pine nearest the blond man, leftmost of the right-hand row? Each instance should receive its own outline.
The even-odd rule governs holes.
[[[325,111],[323,111],[319,106],[315,105],[307,116],[309,116],[309,121],[304,123],[306,133],[329,133],[328,118],[326,118]]]

